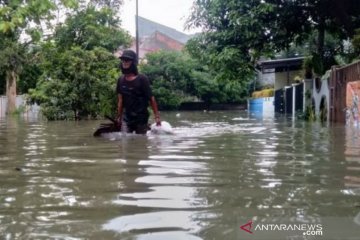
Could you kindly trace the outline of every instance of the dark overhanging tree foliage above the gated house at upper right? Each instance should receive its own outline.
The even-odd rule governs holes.
[[[260,56],[273,56],[316,33],[312,54],[327,67],[325,33],[341,41],[359,26],[356,0],[195,0],[189,27],[204,30],[188,49],[224,80],[251,79]],[[221,73],[221,74],[220,74]],[[225,74],[224,74],[225,73]]]

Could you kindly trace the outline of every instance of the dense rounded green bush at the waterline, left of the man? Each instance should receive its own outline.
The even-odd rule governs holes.
[[[104,48],[91,51],[80,47],[49,54],[33,101],[41,105],[49,120],[96,118],[115,111],[115,80],[118,60]]]

